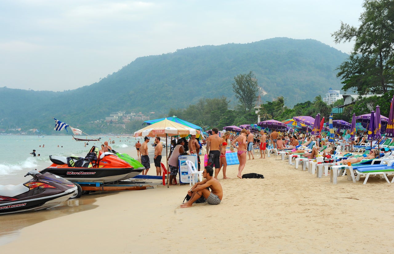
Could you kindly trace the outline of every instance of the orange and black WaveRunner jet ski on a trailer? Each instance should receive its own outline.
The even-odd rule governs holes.
[[[135,169],[117,155],[102,153],[95,146],[85,158],[50,155],[49,159],[53,163],[41,173],[50,172],[72,182],[111,183],[142,172],[142,169]]]

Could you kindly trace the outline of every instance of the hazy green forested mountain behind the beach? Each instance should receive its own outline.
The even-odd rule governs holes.
[[[158,116],[207,97],[225,96],[235,104],[231,84],[236,75],[249,71],[268,93],[263,103],[283,96],[285,104],[293,106],[324,95],[330,87],[340,90],[335,69],[347,57],[316,40],[289,38],[144,56],[100,82],[75,90],[0,88],[0,125],[38,128],[47,126],[52,116],[78,124],[119,110],[153,111]]]

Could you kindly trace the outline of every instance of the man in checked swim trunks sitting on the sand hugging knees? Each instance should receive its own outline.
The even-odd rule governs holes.
[[[191,196],[190,200],[185,204],[180,205],[180,207],[191,207],[197,199],[201,198],[201,196],[204,196],[208,204],[220,204],[223,198],[223,189],[219,181],[217,181],[213,175],[214,170],[212,167],[206,166],[203,172],[204,180],[191,187],[191,189],[188,191],[188,194]],[[212,192],[210,192],[207,187],[209,187]]]

